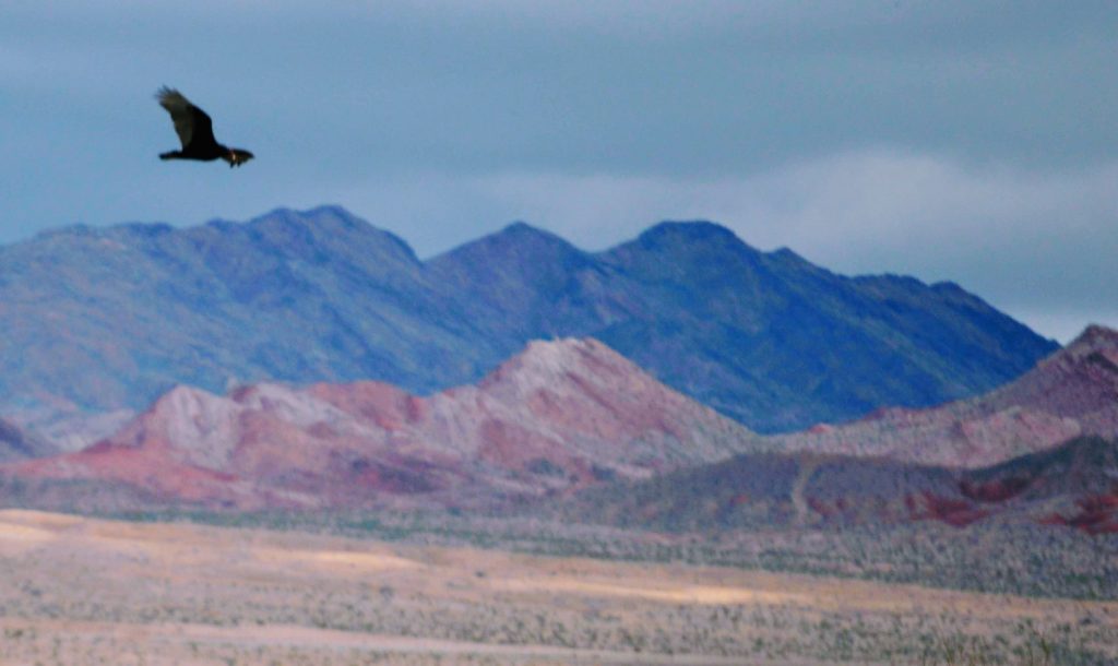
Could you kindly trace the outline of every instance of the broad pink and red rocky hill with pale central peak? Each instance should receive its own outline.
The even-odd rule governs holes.
[[[757,450],[760,438],[595,340],[532,342],[476,386],[178,387],[78,453],[0,466],[235,508],[485,506]]]

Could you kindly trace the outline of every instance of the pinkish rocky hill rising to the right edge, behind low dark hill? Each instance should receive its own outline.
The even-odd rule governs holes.
[[[1001,389],[932,409],[888,408],[774,438],[777,450],[976,468],[1081,436],[1118,437],[1118,331],[1089,326]]]

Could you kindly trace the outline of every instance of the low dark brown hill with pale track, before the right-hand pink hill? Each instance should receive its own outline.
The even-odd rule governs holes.
[[[1118,440],[1079,438],[974,470],[817,454],[742,455],[591,488],[549,513],[678,532],[997,522],[1118,533]]]

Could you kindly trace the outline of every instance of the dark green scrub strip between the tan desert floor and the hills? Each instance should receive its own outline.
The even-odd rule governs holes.
[[[1118,534],[991,523],[936,522],[846,529],[664,534],[541,518],[484,518],[453,512],[106,514],[136,522],[188,522],[471,545],[533,554],[637,562],[717,564],[836,575],[1029,597],[1118,599]]]

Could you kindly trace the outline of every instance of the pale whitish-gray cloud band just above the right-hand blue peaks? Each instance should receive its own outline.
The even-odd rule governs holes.
[[[424,255],[494,219],[525,219],[587,249],[662,219],[711,219],[840,273],[960,283],[1067,341],[1089,322],[1118,325],[1116,191],[1118,162],[1052,172],[866,150],[745,178],[425,174],[352,183],[337,198]]]

